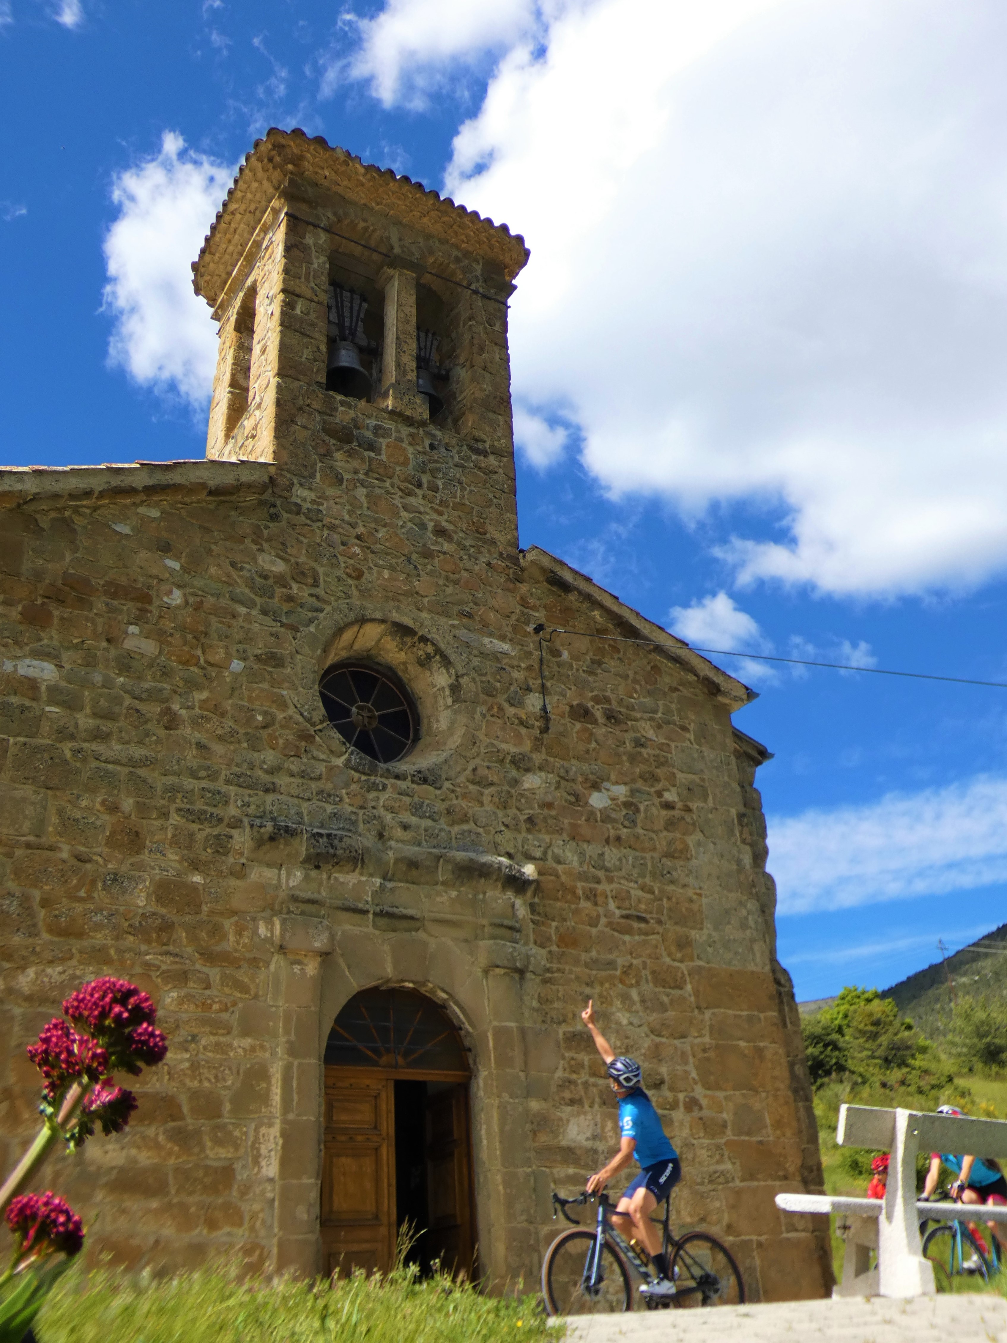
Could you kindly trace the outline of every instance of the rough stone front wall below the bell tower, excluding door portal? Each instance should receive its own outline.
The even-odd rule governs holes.
[[[172,1052],[129,1138],[95,1140],[73,1175],[82,1209],[102,1206],[95,1248],[281,1262],[273,919],[334,877],[259,861],[251,822],[501,854],[538,873],[512,935],[528,948],[512,967],[526,1053],[501,1084],[530,1135],[532,1193],[513,1215],[533,1234],[501,1266],[534,1272],[549,1189],[576,1187],[615,1139],[577,1021],[593,995],[682,1151],[681,1218],[729,1236],[753,1291],[820,1293],[811,1236],[788,1236],[785,1283],[773,1266],[772,1194],[802,1187],[803,1146],[728,709],[653,650],[557,639],[542,733],[529,626],[620,626],[585,580],[493,544],[504,501],[466,443],[329,407],[316,481],[222,462],[199,489],[165,469],[79,502],[56,473],[32,500],[17,502],[20,475],[20,496],[0,494],[16,505],[0,549],[5,1155],[34,1123],[23,1045],[79,979],[128,975],[157,998]],[[314,689],[363,616],[427,641],[397,638],[401,672],[442,694],[397,767],[345,752]],[[391,947],[385,916],[364,917]]]

